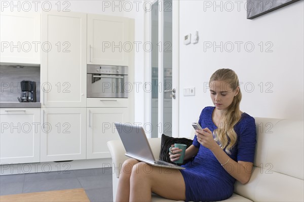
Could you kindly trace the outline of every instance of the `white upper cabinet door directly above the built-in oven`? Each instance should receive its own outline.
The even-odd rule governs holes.
[[[129,19],[88,14],[88,64],[129,66]]]

